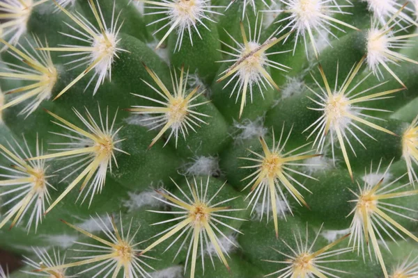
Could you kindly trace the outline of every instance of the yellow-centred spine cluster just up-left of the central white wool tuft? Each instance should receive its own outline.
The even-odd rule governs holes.
[[[201,120],[201,117],[209,116],[199,113],[195,111],[195,109],[197,106],[208,104],[210,101],[194,103],[196,99],[203,94],[203,92],[198,93],[199,87],[194,88],[191,92],[187,92],[187,79],[189,71],[184,74],[184,67],[181,68],[179,78],[177,77],[176,70],[173,70],[174,75],[171,72],[171,85],[173,86],[172,88],[174,91],[173,94],[167,89],[164,83],[162,83],[160,77],[158,77],[155,72],[146,66],[145,68],[161,91],[146,81],[144,81],[144,83],[155,90],[155,92],[160,95],[160,98],[153,99],[144,95],[132,95],[141,97],[141,99],[153,101],[155,104],[159,104],[160,106],[132,106],[132,108],[127,109],[127,111],[131,111],[132,113],[139,115],[152,115],[153,117],[143,119],[144,122],[146,122],[144,126],[153,126],[150,130],[158,129],[162,126],[162,129],[157,136],[155,136],[148,148],[153,147],[155,142],[157,142],[157,140],[162,137],[164,132],[169,129],[171,129],[171,131],[164,146],[167,145],[173,136],[176,140],[177,147],[179,135],[183,135],[183,138],[186,139],[189,129],[196,132],[194,126],[200,127],[199,124],[207,124],[205,121]],[[157,114],[157,116],[154,116],[155,114]]]

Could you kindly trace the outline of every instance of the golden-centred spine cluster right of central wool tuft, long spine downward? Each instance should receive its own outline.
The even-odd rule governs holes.
[[[293,126],[292,126],[293,129]],[[312,150],[309,150],[307,152],[302,152],[299,154],[293,154],[297,152],[299,149],[302,149],[304,147],[307,147],[307,145],[311,143],[307,143],[305,145],[302,145],[300,147],[297,147],[296,149],[291,150],[290,152],[284,152],[284,147],[286,147],[286,143],[288,142],[289,137],[291,136],[291,131],[289,131],[288,136],[286,137],[286,140],[284,140],[283,144],[281,144],[281,140],[284,138],[284,125],[281,129],[280,139],[279,142],[274,140],[274,131],[273,131],[273,145],[272,149],[270,150],[264,140],[263,137],[260,138],[261,146],[263,147],[263,154],[258,154],[256,152],[251,152],[251,154],[254,154],[257,156],[257,158],[246,158],[241,157],[240,159],[246,160],[246,161],[254,161],[256,164],[251,166],[244,166],[242,168],[249,168],[253,169],[255,168],[256,171],[250,174],[249,176],[242,179],[242,181],[251,179],[249,183],[247,183],[247,186],[245,186],[244,189],[247,189],[249,186],[251,186],[251,190],[249,194],[247,195],[246,199],[251,197],[248,207],[253,206],[251,213],[253,213],[254,209],[256,208],[256,204],[258,204],[258,200],[260,199],[261,195],[263,195],[263,206],[267,202],[268,206],[272,208],[273,213],[273,220],[274,220],[274,230],[276,232],[276,236],[279,236],[279,227],[277,225],[277,198],[280,197],[284,200],[284,203],[286,204],[288,211],[291,211],[291,206],[286,201],[286,197],[284,197],[284,192],[281,189],[281,185],[288,190],[288,192],[292,195],[293,198],[299,203],[304,204],[304,206],[308,206],[308,204],[305,202],[302,194],[292,185],[291,181],[297,183],[297,185],[301,186],[308,192],[310,192],[305,186],[302,185],[299,181],[297,181],[294,177],[292,177],[288,172],[293,172],[295,174],[298,174],[303,177],[307,177],[309,179],[314,179],[313,177],[304,174],[302,172],[299,172],[297,170],[292,169],[289,166],[295,165],[293,163],[294,161],[303,161],[307,158],[313,158],[318,156],[317,154],[309,154],[312,152]],[[292,154],[292,155],[290,155]],[[298,163],[297,165],[305,165],[305,163]],[[291,181],[289,181],[289,179]],[[264,192],[264,193],[263,193]],[[270,197],[270,200],[268,199]],[[254,204],[253,204],[254,203]],[[286,215],[284,213],[284,208],[281,208],[282,215],[286,218]],[[263,211],[261,213],[261,219],[263,218]],[[268,218],[267,218],[268,220]]]

